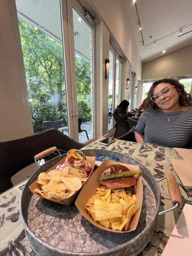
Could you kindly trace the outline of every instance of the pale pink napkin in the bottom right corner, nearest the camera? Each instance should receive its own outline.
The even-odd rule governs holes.
[[[161,256],[192,255],[192,205],[185,204]]]

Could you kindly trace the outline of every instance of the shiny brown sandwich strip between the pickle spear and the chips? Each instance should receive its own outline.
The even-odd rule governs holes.
[[[134,176],[114,179],[114,180],[104,180],[100,181],[99,184],[102,186],[106,186],[106,188],[118,189],[118,188],[129,188],[131,186],[136,185],[136,179]]]

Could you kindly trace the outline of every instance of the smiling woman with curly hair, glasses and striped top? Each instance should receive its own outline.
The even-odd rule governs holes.
[[[184,86],[175,79],[154,82],[135,131],[139,143],[192,147],[191,96]]]

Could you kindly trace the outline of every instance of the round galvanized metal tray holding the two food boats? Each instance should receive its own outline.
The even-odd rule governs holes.
[[[108,150],[82,150],[86,156],[116,156],[122,163],[140,166],[143,177],[143,205],[134,232],[116,234],[101,230],[86,221],[75,205],[54,204],[33,195],[29,185],[66,155],[41,166],[28,180],[20,199],[20,216],[31,247],[37,255],[138,255],[150,241],[159,209],[160,191],[145,166],[129,156]]]

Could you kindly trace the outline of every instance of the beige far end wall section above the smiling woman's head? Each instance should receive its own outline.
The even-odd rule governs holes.
[[[192,75],[192,45],[143,63],[142,80]]]

